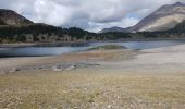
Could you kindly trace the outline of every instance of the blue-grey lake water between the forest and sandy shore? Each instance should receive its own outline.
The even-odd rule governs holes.
[[[42,57],[42,56],[59,56],[67,52],[85,51],[91,47],[103,46],[103,45],[121,45],[128,49],[150,49],[166,47],[173,45],[185,44],[180,40],[157,40],[157,41],[123,41],[123,43],[89,43],[83,45],[72,46],[39,46],[39,47],[22,47],[22,48],[0,48],[0,58],[10,57]]]

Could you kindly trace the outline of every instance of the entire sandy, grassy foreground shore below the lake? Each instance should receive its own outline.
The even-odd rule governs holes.
[[[184,56],[177,45],[0,59],[0,108],[183,109]]]

